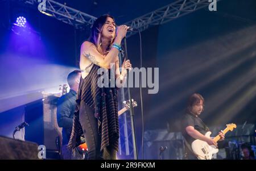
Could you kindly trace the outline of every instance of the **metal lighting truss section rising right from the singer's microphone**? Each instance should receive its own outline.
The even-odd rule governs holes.
[[[216,2],[221,1],[217,0]],[[210,5],[213,2],[210,0],[177,0],[170,3],[167,6],[161,7],[158,10],[152,11],[148,14],[135,18],[130,22],[125,23],[127,26],[137,28],[139,31],[144,31],[150,26],[156,26],[164,24],[179,18],[180,16],[189,14],[196,10],[202,9]],[[135,32],[129,32],[127,37],[135,34]]]

